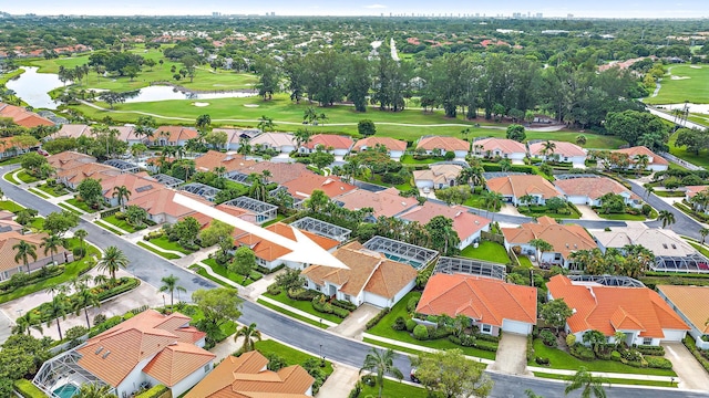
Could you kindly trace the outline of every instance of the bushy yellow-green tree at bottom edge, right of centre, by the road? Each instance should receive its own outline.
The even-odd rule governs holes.
[[[485,375],[484,367],[463,355],[461,349],[421,353],[412,359],[415,376],[430,396],[486,397],[493,381]]]

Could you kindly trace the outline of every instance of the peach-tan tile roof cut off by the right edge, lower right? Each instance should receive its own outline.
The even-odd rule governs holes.
[[[657,290],[672,302],[691,324],[703,334],[709,334],[709,286],[659,285]],[[702,305],[698,305],[702,303]]]

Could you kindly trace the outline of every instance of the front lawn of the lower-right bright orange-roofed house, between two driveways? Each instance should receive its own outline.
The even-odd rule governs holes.
[[[544,345],[541,339],[534,341],[534,355],[542,358],[549,358],[549,367],[554,369],[569,369],[578,370],[579,367],[585,366],[590,371],[608,371],[608,373],[624,373],[634,375],[655,375],[655,376],[676,376],[672,370],[667,369],[651,369],[651,368],[636,368],[629,365],[621,364],[615,360],[602,360],[596,359],[592,362],[580,360],[571,354],[561,349],[551,348]],[[538,366],[531,360],[530,366]]]

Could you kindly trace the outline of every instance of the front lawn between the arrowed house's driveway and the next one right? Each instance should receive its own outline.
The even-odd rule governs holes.
[[[409,302],[409,298],[411,298],[414,294],[418,294],[418,293],[410,292],[409,294],[403,296],[403,298],[401,298],[399,303],[397,303],[391,308],[391,312],[387,314],[374,327],[367,331],[367,333],[376,336],[392,338],[403,343],[417,344],[417,345],[429,347],[429,348],[435,348],[435,349],[459,348],[459,349],[462,349],[463,354],[465,355],[470,355],[479,358],[495,359],[495,353],[477,349],[474,347],[462,347],[456,344],[453,344],[448,338],[440,338],[435,341],[418,341],[413,338],[407,331],[394,331],[393,328],[391,328],[391,325],[394,324],[394,321],[399,316],[402,316],[404,318],[409,317],[409,313],[407,312],[407,303]]]

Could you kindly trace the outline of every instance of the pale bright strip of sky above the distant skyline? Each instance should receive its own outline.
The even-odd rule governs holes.
[[[276,15],[389,15],[475,14],[505,15],[513,12],[544,17],[575,18],[701,18],[709,17],[707,0],[30,0],[3,1],[0,11],[11,14],[35,13],[92,15],[206,15],[223,14]]]

